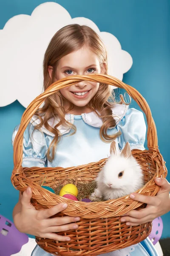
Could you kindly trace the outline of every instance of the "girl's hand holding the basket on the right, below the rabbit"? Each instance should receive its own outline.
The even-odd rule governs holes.
[[[147,204],[147,207],[141,210],[132,210],[120,218],[120,221],[126,222],[127,226],[137,226],[170,211],[170,183],[164,178],[155,178],[155,183],[161,186],[156,196],[145,196],[140,194],[130,194],[130,198]]]

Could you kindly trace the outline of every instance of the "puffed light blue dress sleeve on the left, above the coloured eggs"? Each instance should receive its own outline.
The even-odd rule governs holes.
[[[17,125],[12,134],[12,144],[20,125]],[[34,126],[29,124],[23,137],[23,167],[45,167],[46,153],[48,147],[45,134],[39,130],[34,130]]]

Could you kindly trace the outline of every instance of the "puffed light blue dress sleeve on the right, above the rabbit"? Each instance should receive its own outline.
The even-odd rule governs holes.
[[[128,109],[125,116],[117,125],[117,130],[122,132],[118,137],[118,144],[121,150],[127,142],[129,142],[131,150],[145,149],[146,125],[144,115],[141,111],[135,108]]]

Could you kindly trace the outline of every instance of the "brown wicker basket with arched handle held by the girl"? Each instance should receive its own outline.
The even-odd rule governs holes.
[[[70,236],[71,241],[69,242],[36,237],[37,244],[45,251],[54,255],[95,256],[122,249],[146,239],[151,232],[152,226],[151,222],[149,222],[129,227],[119,221],[120,216],[126,212],[145,207],[145,204],[133,201],[129,196],[109,201],[85,203],[60,197],[40,186],[40,181],[45,177],[45,185],[51,187],[54,186],[54,180],[57,183],[64,178],[77,179],[81,182],[94,180],[101,167],[105,164],[106,159],[71,168],[22,167],[23,133],[35,111],[37,111],[47,96],[83,80],[111,84],[125,89],[146,114],[148,150],[132,150],[133,156],[142,165],[145,180],[144,187],[137,192],[143,195],[155,196],[160,187],[155,184],[154,178],[167,176],[165,162],[159,153],[156,126],[150,108],[136,89],[119,79],[102,74],[72,76],[51,84],[44,93],[31,102],[23,113],[20,128],[14,140],[14,170],[11,175],[11,182],[21,192],[25,191],[27,186],[31,187],[33,190],[32,204],[36,209],[47,209],[66,201],[68,207],[57,216],[81,217],[80,221],[77,222],[79,224],[78,230],[59,233],[60,235]]]

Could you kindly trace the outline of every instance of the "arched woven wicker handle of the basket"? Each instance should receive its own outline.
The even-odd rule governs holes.
[[[100,82],[105,84],[110,84],[122,89],[125,89],[127,93],[137,102],[139,107],[145,113],[147,118],[147,146],[149,149],[153,151],[158,150],[158,137],[156,132],[156,125],[153,120],[149,105],[146,100],[142,97],[142,95],[130,85],[127,85],[120,81],[119,79],[103,74],[91,74],[88,76],[70,76],[68,78],[64,78],[58,80],[51,84],[42,94],[37,96],[26,108],[21,118],[21,123],[17,135],[14,140],[14,170],[13,175],[20,174],[23,172],[22,161],[23,161],[23,134],[26,130],[28,123],[30,122],[32,116],[40,107],[42,102],[44,102],[45,98],[53,93],[56,93],[62,88],[71,86],[73,84],[77,84],[80,81],[92,81],[92,82]]]

